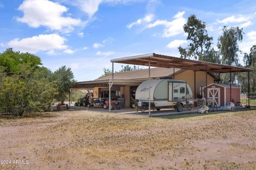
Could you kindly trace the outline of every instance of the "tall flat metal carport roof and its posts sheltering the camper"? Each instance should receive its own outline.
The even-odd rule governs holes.
[[[154,67],[165,67],[165,68],[178,68],[178,69],[186,69],[196,71],[205,71],[205,86],[207,91],[207,74],[208,73],[231,73],[232,72],[248,72],[248,96],[250,95],[250,71],[251,69],[246,69],[243,67],[236,67],[230,65],[216,64],[210,62],[202,62],[195,60],[188,60],[184,58],[160,55],[155,53],[115,58],[111,60],[112,62],[112,82],[109,83],[109,91],[114,83],[114,63],[123,63],[123,64],[134,64],[134,65],[143,65],[148,66],[148,80],[150,87],[150,66]],[[196,74],[195,74],[196,75]],[[174,78],[174,75],[173,75]],[[194,79],[194,83],[196,83],[196,77]],[[196,87],[196,86],[195,86]],[[194,89],[195,90],[195,89]],[[207,94],[206,94],[207,96]],[[109,95],[110,98],[110,95]],[[231,100],[231,81],[230,81],[230,100]],[[206,98],[207,102],[207,98]],[[250,106],[250,97],[249,97],[249,106]],[[109,109],[110,112],[110,109]],[[150,116],[150,88],[149,88],[149,116]]]

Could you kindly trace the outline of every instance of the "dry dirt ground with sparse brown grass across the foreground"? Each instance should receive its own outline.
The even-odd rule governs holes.
[[[62,111],[0,118],[0,132],[0,169],[256,169],[256,111]]]

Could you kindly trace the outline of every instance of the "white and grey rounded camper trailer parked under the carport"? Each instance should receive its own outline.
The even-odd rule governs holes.
[[[135,94],[137,106],[149,105],[149,80],[142,82]],[[161,108],[175,108],[182,112],[183,107],[190,110],[194,103],[193,93],[185,81],[172,79],[150,80],[150,107],[159,111]]]

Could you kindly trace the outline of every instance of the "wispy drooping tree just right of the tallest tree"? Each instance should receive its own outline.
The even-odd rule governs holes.
[[[243,29],[239,27],[222,28],[222,35],[218,39],[218,48],[222,56],[222,64],[238,65],[238,42],[243,40]]]

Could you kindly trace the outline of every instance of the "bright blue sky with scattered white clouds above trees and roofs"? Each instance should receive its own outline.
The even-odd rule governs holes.
[[[0,0],[0,12],[1,52],[34,53],[53,71],[67,65],[78,81],[97,79],[111,58],[179,57],[178,46],[189,43],[182,26],[191,14],[206,22],[214,46],[223,25],[243,27],[243,52],[256,44],[253,0]]]

